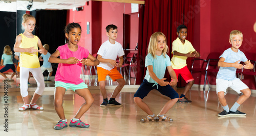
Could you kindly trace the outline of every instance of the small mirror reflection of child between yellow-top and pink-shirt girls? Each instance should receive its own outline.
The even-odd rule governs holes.
[[[39,61],[44,61],[44,63],[41,66],[41,71],[42,73],[44,73],[46,70],[49,72],[47,79],[45,79],[45,81],[51,81],[50,77],[52,76],[52,65],[50,62],[48,62],[49,57],[51,56],[51,54],[48,52],[49,50],[49,45],[45,44],[44,48],[47,50],[47,54],[43,55],[41,54],[41,56],[39,57]]]

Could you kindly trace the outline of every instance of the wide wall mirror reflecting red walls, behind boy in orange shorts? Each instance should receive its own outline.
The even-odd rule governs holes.
[[[30,7],[30,10],[28,10],[27,7],[29,5],[32,5],[32,7]],[[38,5],[40,5],[41,8],[37,8],[37,10],[35,10]],[[45,5],[46,7],[42,5]],[[138,6],[138,4],[134,5],[98,1],[87,2],[84,0],[75,0],[69,2],[47,1],[45,3],[42,3],[41,0],[37,0],[33,1],[33,4],[29,3],[28,1],[17,1],[17,20],[22,18],[22,15],[24,13],[33,13],[32,15],[36,16],[36,28],[34,33],[40,38],[42,45],[46,43],[49,44],[50,53],[55,52],[56,48],[59,45],[65,44],[65,34],[63,33],[63,29],[64,26],[66,26],[67,24],[66,22],[77,22],[82,27],[82,35],[78,44],[87,48],[92,55],[94,53],[97,53],[100,45],[104,41],[108,40],[108,37],[105,35],[105,26],[108,24],[115,24],[118,26],[118,37],[116,41],[123,45],[126,56],[129,52],[133,52],[135,54],[137,53],[136,46],[138,44],[139,26]],[[56,14],[56,17],[51,18],[54,14]],[[38,17],[39,15],[40,17]],[[59,24],[55,21],[61,19],[61,17],[57,18],[60,15],[66,16],[66,19],[64,20],[66,22],[62,26],[62,28],[58,27],[62,24]],[[55,23],[57,24],[54,25]],[[20,24],[21,21],[20,23],[17,23],[17,26]],[[18,31],[19,30],[17,30],[17,35],[24,32]],[[135,61],[136,59],[134,55],[133,63]],[[42,62],[40,62],[40,65],[42,65]],[[57,69],[57,64],[52,64],[52,67],[53,75],[50,77],[50,80],[52,81],[46,81],[46,87],[54,87],[54,76]],[[126,73],[124,74],[124,78],[126,79],[126,85],[133,85],[135,82],[135,78],[130,78],[130,81],[128,80],[128,73],[130,72],[130,67],[123,68],[123,70],[125,70]],[[130,77],[135,77],[132,68],[131,71],[132,72]],[[44,72],[44,76],[46,79],[48,76],[47,70]],[[83,69],[81,70],[81,78],[88,86],[99,85],[97,81],[97,76],[95,75],[95,69],[93,67],[83,67]],[[106,85],[117,84],[113,83],[112,80],[109,80],[108,77],[106,79]],[[29,87],[37,87],[33,75],[29,79],[29,83],[31,84],[31,86]],[[17,78],[17,85],[18,84],[19,78]]]

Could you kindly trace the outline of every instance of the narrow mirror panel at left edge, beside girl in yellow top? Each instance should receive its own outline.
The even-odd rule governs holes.
[[[12,50],[12,58],[13,58],[13,64],[15,64],[14,59],[14,51],[13,51],[13,45],[15,43],[15,37],[16,37],[16,0],[11,1],[0,1],[0,31],[2,32],[0,35],[1,37],[1,48],[0,48],[0,55],[2,56],[4,54],[4,47],[6,45],[9,45]],[[9,58],[9,57],[8,57]],[[2,60],[2,59],[1,59]],[[0,69],[4,68],[6,58],[3,59],[3,64],[0,66]],[[11,61],[9,61],[8,65],[10,65]],[[11,64],[12,65],[12,64]],[[2,72],[2,71],[1,71]],[[0,75],[0,90],[4,91],[4,89],[9,88],[16,88],[16,76],[11,76],[13,71],[11,69],[3,69],[3,74],[9,78],[8,81],[2,81],[5,80],[5,77],[3,75]],[[11,79],[12,77],[12,79]]]

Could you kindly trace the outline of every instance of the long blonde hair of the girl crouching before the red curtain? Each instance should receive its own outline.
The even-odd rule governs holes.
[[[148,44],[148,47],[147,47],[147,53],[148,54],[151,53],[154,59],[156,58],[157,38],[159,36],[163,36],[166,43],[165,35],[162,32],[156,32],[150,37],[150,43]],[[165,44],[165,48],[162,50],[164,58],[165,58],[165,55],[168,53],[168,51],[169,51],[168,46],[167,44]]]

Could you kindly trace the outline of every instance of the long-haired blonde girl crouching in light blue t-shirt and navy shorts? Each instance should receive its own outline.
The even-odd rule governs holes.
[[[170,58],[168,55],[166,55],[168,52],[168,46],[166,45],[165,35],[161,32],[154,33],[150,38],[150,43],[148,44],[147,49],[148,54],[145,59],[145,67],[147,68],[146,75],[143,83],[134,94],[135,103],[148,115],[142,118],[140,122],[173,122],[173,120],[165,116],[165,114],[178,101],[179,95],[171,87],[177,84],[177,77],[171,66]],[[166,68],[170,77],[172,77],[170,82],[165,81],[166,78],[164,78]],[[170,98],[165,103],[157,117],[150,110],[150,107],[148,107],[148,105],[142,101],[142,99],[153,89],[156,89],[161,94]]]

